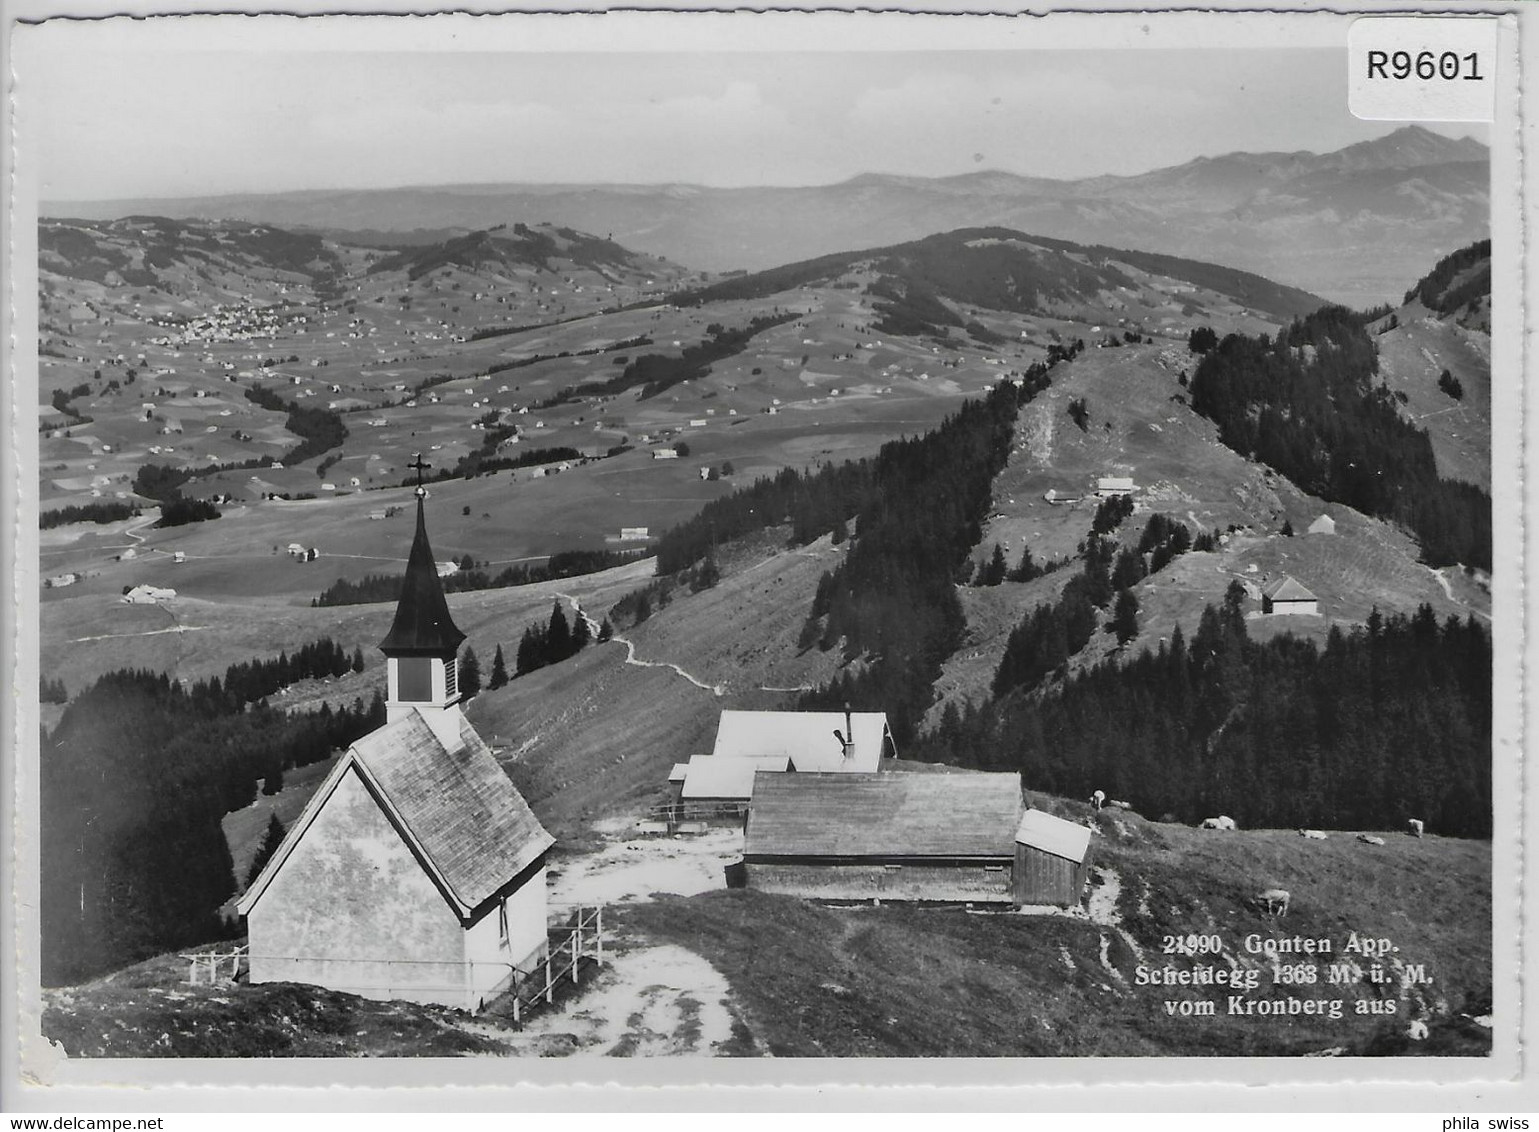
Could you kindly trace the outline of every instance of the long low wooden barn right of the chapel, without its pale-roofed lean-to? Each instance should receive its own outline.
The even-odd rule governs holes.
[[[813,900],[1011,904],[1014,774],[759,774],[748,887]]]

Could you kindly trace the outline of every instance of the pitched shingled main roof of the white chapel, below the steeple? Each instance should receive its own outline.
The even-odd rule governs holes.
[[[337,760],[280,851],[240,898],[242,914],[260,898],[349,767],[359,771],[462,917],[556,843],[468,721],[460,718],[460,741],[446,749],[422,715],[411,712],[369,732]]]

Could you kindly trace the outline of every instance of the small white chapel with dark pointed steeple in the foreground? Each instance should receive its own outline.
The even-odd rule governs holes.
[[[337,761],[237,901],[252,983],[474,1010],[545,958],[554,838],[460,712],[463,640],[419,495],[380,643],[386,723]]]

